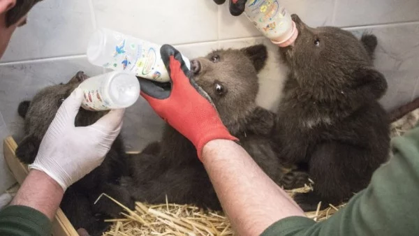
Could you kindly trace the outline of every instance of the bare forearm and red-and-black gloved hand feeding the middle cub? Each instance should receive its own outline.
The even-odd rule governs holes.
[[[203,98],[205,94],[201,95],[203,91],[193,87],[193,80],[186,77],[189,71],[184,68],[179,52],[165,45],[161,55],[172,79],[170,94],[153,82],[140,80],[142,96],[163,119],[196,146],[221,205],[239,235],[258,235],[278,219],[304,215],[235,143],[237,139],[223,126],[210,101]]]

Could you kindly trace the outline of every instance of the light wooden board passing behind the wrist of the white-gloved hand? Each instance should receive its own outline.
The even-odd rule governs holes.
[[[28,175],[27,165],[24,165],[17,159],[15,151],[17,144],[12,137],[8,137],[3,142],[3,152],[6,163],[8,164],[13,175],[17,179],[17,182],[22,184],[24,178]],[[64,212],[59,208],[55,219],[52,222],[52,235],[54,236],[78,236],[77,231],[68,221]]]

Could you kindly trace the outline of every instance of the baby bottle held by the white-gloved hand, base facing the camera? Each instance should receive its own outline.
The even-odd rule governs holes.
[[[140,96],[140,83],[132,73],[112,71],[84,80],[79,88],[83,91],[82,108],[86,110],[110,110],[128,108]]]

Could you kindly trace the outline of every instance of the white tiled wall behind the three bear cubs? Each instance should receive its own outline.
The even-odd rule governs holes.
[[[419,96],[418,0],[282,0],[311,26],[347,27],[356,34],[378,36],[376,67],[385,73],[388,94],[385,108]],[[101,73],[84,56],[96,27],[110,27],[156,43],[177,45],[187,57],[217,47],[243,47],[263,42],[270,62],[260,76],[258,102],[274,109],[286,68],[277,61],[277,47],[261,37],[244,16],[232,17],[226,6],[212,0],[44,0],[29,14],[28,24],[17,29],[0,61],[0,138],[22,138],[17,105],[48,84],[66,82],[83,70]],[[3,120],[1,119],[3,117]],[[139,150],[160,135],[162,122],[141,98],[128,109],[123,134],[128,149]],[[0,193],[10,185],[0,158]]]

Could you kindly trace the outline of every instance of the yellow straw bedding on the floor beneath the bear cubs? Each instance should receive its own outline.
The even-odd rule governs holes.
[[[391,136],[403,135],[419,121],[419,109],[409,112],[401,119],[393,122],[390,128]],[[290,196],[295,193],[311,191],[312,186],[287,191]],[[107,198],[109,196],[102,196]],[[330,205],[327,209],[316,212],[306,212],[314,221],[323,221],[339,211],[346,204]],[[121,205],[122,206],[122,205]],[[223,212],[200,209],[193,205],[166,204],[147,205],[136,202],[135,210],[122,206],[124,212],[121,219],[110,219],[113,222],[110,230],[103,235],[235,235]],[[320,205],[318,207],[320,209]]]

